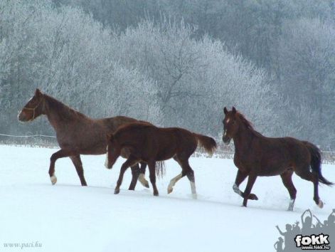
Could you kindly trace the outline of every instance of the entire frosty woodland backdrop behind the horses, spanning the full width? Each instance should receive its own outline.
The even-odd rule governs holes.
[[[257,130],[335,148],[332,1],[0,0],[0,130],[36,87],[92,117],[222,134],[223,106]]]

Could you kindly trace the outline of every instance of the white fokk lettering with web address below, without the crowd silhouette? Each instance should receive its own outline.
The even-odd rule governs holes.
[[[302,236],[301,234],[295,236],[295,242],[298,248],[308,250],[330,250],[329,246],[329,235],[323,233],[318,236],[312,234],[312,236]]]

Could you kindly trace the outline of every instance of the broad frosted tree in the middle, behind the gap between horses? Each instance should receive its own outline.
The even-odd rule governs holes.
[[[147,20],[115,39],[113,56],[155,80],[161,123],[220,135],[225,105],[239,107],[260,126],[273,117],[270,98],[278,96],[270,92],[265,72],[220,41],[195,33],[184,21]]]

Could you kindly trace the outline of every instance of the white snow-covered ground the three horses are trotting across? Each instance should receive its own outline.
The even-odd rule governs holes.
[[[130,170],[114,195],[123,159],[107,170],[104,155],[82,156],[88,187],[80,186],[70,159],[58,159],[58,183],[52,186],[48,165],[56,150],[0,146],[0,251],[21,250],[5,243],[37,242],[41,247],[23,251],[269,252],[280,236],[275,225],[285,229],[305,209],[323,220],[335,208],[335,188],[320,187],[325,206],[319,209],[312,183],[295,175],[294,212],[286,211],[289,195],[280,177],[258,178],[252,191],[260,200],[243,208],[231,189],[237,169],[230,159],[190,160],[198,199],[191,198],[186,177],[167,194],[169,180],[181,171],[173,160],[157,182],[159,197],[139,183],[136,191],[127,191]],[[323,165],[323,173],[335,182],[334,165]]]

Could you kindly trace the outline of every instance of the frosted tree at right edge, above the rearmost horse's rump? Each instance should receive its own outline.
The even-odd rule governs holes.
[[[289,125],[289,132],[324,147],[335,146],[334,45],[333,23],[299,19],[286,23],[279,48],[281,88],[291,107],[292,119],[287,121],[299,122]],[[306,112],[304,117],[299,116],[301,111]]]

